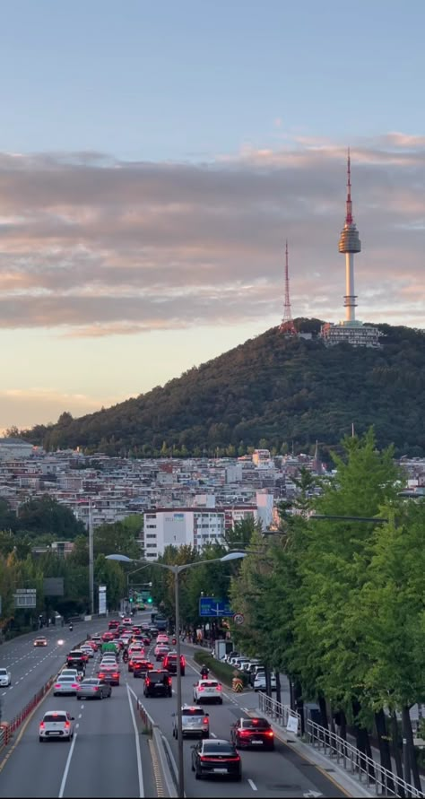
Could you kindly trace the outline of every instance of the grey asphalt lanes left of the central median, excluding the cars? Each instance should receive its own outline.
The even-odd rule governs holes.
[[[145,614],[145,617],[147,614]],[[140,614],[138,621],[143,620]],[[48,677],[64,664],[66,653],[87,631],[106,629],[105,621],[83,622],[66,630],[65,646],[56,643],[58,630],[46,630],[48,647],[35,648],[35,635],[5,644],[2,663],[11,666],[13,688],[6,690],[7,706],[22,709]],[[45,630],[41,631],[43,634]],[[60,630],[63,634],[64,630]],[[13,646],[10,646],[10,645]],[[91,658],[86,674],[95,673],[99,656]],[[13,743],[4,750],[0,762],[0,796],[72,797],[157,796],[158,784],[152,768],[152,743],[140,734],[140,720],[135,714],[135,700],[126,687],[126,669],[122,681],[112,688],[110,699],[76,700],[53,697],[50,691],[22,725]],[[131,676],[131,675],[130,675]],[[133,686],[132,686],[133,687]],[[39,721],[48,710],[66,709],[75,718],[74,741],[39,743]],[[4,714],[5,717],[5,714]]]

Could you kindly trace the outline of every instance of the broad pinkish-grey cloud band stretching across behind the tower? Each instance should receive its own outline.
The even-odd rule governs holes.
[[[0,154],[0,328],[81,338],[277,324],[286,238],[293,315],[336,321],[345,156],[301,135],[212,163]],[[351,180],[358,315],[423,326],[425,137],[351,143]]]

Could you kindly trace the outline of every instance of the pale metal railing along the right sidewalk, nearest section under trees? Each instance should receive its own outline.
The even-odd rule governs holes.
[[[373,789],[377,796],[411,796],[423,799],[425,794],[414,786],[384,769],[376,760],[369,758],[352,743],[308,719],[306,725],[308,743],[321,751],[325,757],[336,760],[343,769],[359,778],[359,782]]]

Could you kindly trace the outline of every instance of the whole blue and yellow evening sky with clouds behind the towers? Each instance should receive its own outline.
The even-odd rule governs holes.
[[[423,328],[422,0],[3,0],[0,430],[292,316]]]

